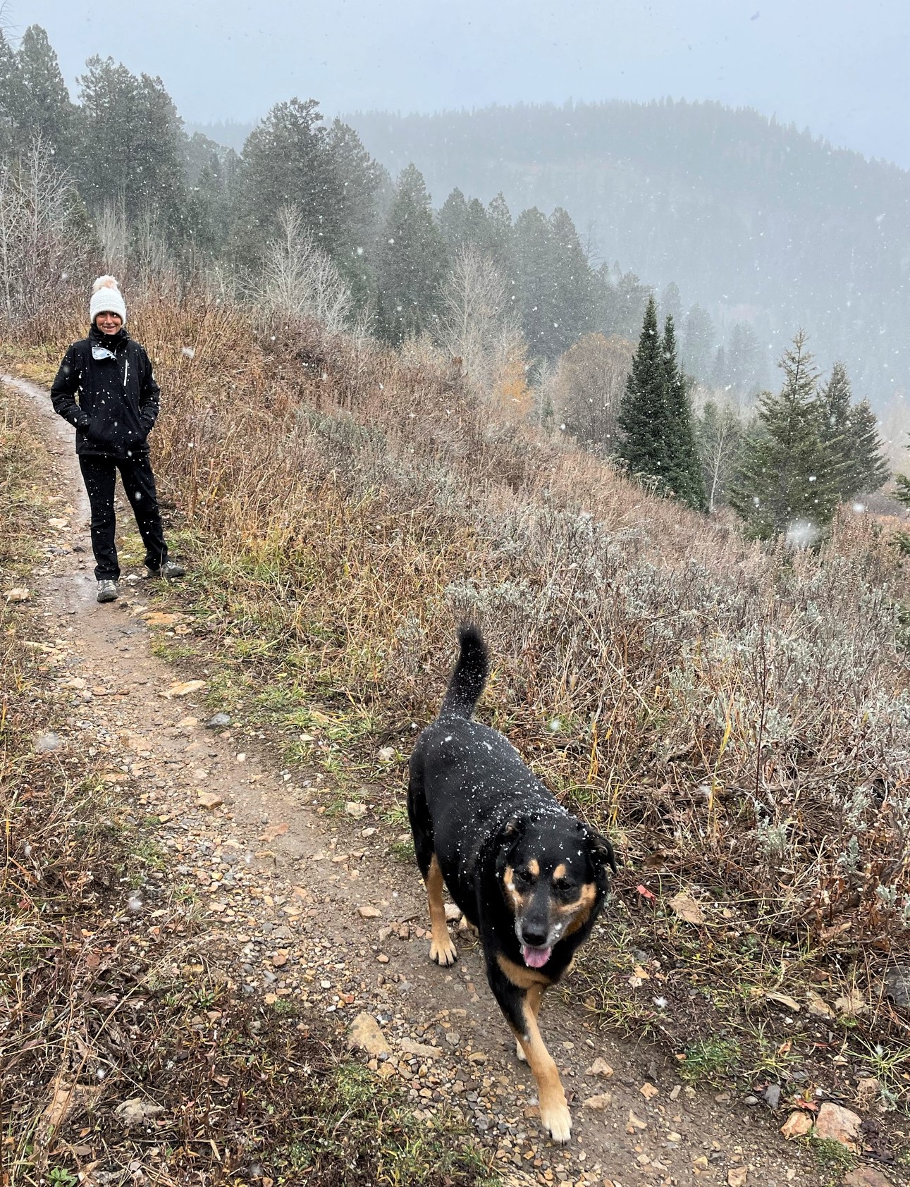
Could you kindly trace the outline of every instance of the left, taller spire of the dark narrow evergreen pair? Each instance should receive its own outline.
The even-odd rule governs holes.
[[[648,299],[638,349],[619,402],[617,457],[634,475],[668,481],[667,367],[657,331],[657,304]]]

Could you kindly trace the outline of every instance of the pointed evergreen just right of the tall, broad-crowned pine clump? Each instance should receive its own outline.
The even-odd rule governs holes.
[[[376,261],[376,322],[395,345],[439,320],[446,252],[415,165],[402,170]]]

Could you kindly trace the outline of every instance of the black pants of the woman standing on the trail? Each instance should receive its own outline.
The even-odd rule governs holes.
[[[91,551],[95,553],[97,580],[120,580],[117,548],[114,542],[116,529],[114,484],[117,470],[136,518],[139,534],[146,546],[145,563],[149,569],[160,569],[167,560],[167,545],[164,540],[158,491],[148,455],[140,453],[131,458],[79,455],[79,469],[91,504]]]

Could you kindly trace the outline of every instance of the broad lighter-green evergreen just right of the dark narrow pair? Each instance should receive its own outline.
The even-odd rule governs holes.
[[[763,393],[756,430],[744,447],[730,503],[750,535],[787,532],[803,539],[831,522],[838,485],[831,452],[821,439],[817,372],[802,330],[779,364],[779,395]]]

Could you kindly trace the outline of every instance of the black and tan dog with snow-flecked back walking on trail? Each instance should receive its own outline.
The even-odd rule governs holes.
[[[411,756],[408,815],[429,897],[429,957],[456,960],[443,883],[478,929],[486,977],[537,1081],[558,1142],[572,1119],[537,1010],[588,935],[616,870],[610,842],[569,815],[496,730],[471,719],[488,673],[479,630],[463,626],[439,717]]]

